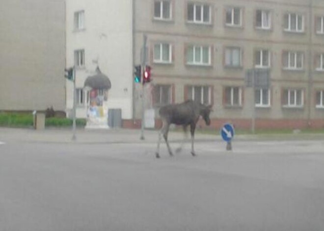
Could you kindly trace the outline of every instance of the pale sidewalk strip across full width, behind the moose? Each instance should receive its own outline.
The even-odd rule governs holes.
[[[76,130],[75,141],[72,140],[71,128],[46,128],[34,130],[32,128],[0,128],[0,141],[16,142],[40,142],[40,143],[156,143],[158,141],[157,130],[144,130],[145,140],[140,140],[140,129],[84,129]],[[170,142],[182,141],[184,135],[179,131],[170,131]],[[324,140],[324,134],[258,134],[235,135],[233,142],[259,140],[259,141],[283,141],[283,140]],[[188,133],[187,142],[190,141]],[[220,135],[195,133],[195,141],[223,142]]]

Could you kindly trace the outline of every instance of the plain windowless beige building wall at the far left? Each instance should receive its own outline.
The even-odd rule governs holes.
[[[65,111],[65,1],[0,7],[0,111]]]

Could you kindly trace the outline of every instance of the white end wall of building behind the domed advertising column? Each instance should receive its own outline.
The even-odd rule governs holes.
[[[97,67],[111,82],[104,110],[119,108],[124,120],[133,108],[133,4],[131,0],[66,0],[66,67],[75,66],[77,117],[86,118],[90,91],[87,77]],[[67,116],[72,116],[73,83],[67,80]],[[97,93],[96,93],[97,94]]]

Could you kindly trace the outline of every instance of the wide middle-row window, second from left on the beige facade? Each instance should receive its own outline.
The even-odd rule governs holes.
[[[187,64],[189,65],[211,65],[211,47],[189,46],[187,48]]]

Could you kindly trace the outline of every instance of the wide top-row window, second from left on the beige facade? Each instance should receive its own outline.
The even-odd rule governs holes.
[[[211,7],[206,4],[188,3],[188,22],[211,24]]]

